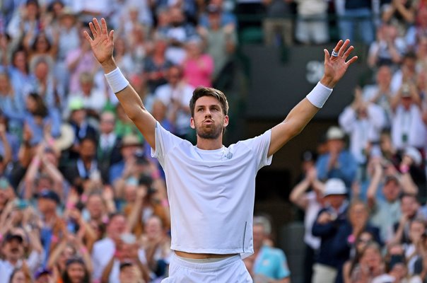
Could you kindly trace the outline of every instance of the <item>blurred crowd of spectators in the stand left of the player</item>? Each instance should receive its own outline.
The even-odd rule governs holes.
[[[194,140],[194,88],[230,84],[236,19],[221,0],[1,1],[1,283],[168,274],[164,173],[83,36],[93,17],[107,18],[117,65],[180,137]]]

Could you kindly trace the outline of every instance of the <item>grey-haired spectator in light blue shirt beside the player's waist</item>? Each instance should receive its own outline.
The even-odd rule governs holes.
[[[266,243],[271,233],[270,221],[264,216],[254,217],[254,254],[244,262],[254,282],[290,283],[291,272],[283,250]]]

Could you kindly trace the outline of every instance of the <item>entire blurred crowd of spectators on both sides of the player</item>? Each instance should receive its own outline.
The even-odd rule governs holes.
[[[425,281],[427,1],[4,0],[0,283],[167,277],[164,173],[83,31],[107,18],[146,108],[194,141],[192,91],[233,85],[238,30],[251,25],[236,15],[257,12],[266,45],[324,44],[336,28],[369,47],[372,79],[303,154],[290,196],[305,210],[305,282]],[[255,219],[245,264],[255,282],[289,282],[267,220]]]

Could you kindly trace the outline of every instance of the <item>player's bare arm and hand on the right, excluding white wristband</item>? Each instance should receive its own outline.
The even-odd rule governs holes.
[[[346,73],[347,68],[353,62],[356,62],[357,56],[352,57],[346,62],[347,57],[349,57],[354,48],[353,46],[349,47],[349,44],[350,40],[346,40],[345,42],[339,40],[334,48],[334,50],[339,50],[337,57],[330,57],[329,52],[327,50],[323,50],[324,75],[320,80],[320,83],[322,83],[323,86],[326,86],[327,88],[334,88],[341,77]],[[276,153],[276,151],[281,149],[281,147],[290,139],[299,134],[319,110],[320,108],[312,105],[307,98],[301,100],[300,103],[298,103],[298,105],[289,112],[283,122],[271,129],[271,141],[268,156]]]

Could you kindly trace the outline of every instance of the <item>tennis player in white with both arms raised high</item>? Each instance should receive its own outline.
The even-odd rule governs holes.
[[[102,28],[101,28],[102,25]],[[93,54],[112,91],[163,166],[171,213],[169,277],[163,282],[252,282],[242,258],[254,253],[252,213],[255,176],[276,151],[299,134],[324,105],[332,89],[357,57],[340,40],[332,55],[324,50],[324,76],[289,112],[286,119],[253,139],[223,146],[228,125],[226,96],[214,88],[197,88],[190,101],[190,126],[197,145],[167,132],[144,108],[141,98],[112,57],[113,31],[101,19],[89,23]]]

